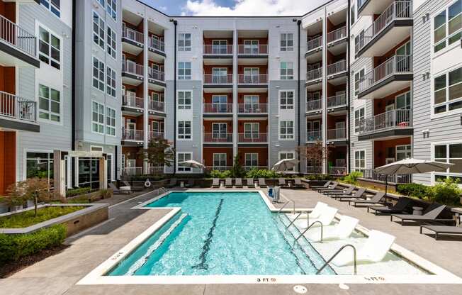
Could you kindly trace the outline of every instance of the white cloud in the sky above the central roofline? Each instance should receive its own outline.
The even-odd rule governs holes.
[[[301,16],[327,0],[234,0],[230,7],[214,0],[188,0],[183,13],[192,16]]]

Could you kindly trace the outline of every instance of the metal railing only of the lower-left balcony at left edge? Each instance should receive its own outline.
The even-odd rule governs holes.
[[[0,91],[0,116],[21,121],[37,121],[35,101]]]

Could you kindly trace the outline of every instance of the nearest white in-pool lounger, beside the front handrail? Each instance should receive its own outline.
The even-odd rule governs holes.
[[[382,261],[394,242],[395,237],[393,235],[388,235],[388,233],[383,233],[378,230],[371,230],[366,243],[360,249],[356,250],[356,262]],[[337,267],[342,267],[344,265],[352,265],[353,261],[353,249],[348,247],[342,250],[342,252],[332,260],[332,263],[337,265]]]

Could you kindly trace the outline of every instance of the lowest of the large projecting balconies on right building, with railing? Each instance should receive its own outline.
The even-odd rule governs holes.
[[[412,110],[396,109],[359,121],[359,140],[412,135]]]

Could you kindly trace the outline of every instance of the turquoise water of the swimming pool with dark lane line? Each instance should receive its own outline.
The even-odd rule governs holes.
[[[315,274],[325,260],[258,192],[171,192],[145,207],[181,207],[108,275]],[[335,274],[326,267],[322,274]]]

